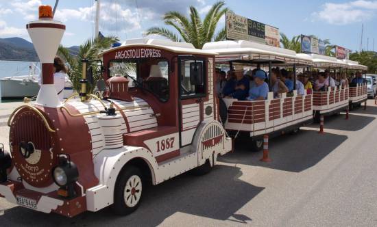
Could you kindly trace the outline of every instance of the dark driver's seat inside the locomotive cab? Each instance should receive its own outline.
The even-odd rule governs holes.
[[[147,88],[154,92],[161,99],[167,99],[169,94],[169,84],[165,77],[162,77],[162,72],[160,66],[151,65],[151,70],[149,71],[149,77],[147,81]]]

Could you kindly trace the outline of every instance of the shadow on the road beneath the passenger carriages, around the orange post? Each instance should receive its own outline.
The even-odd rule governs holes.
[[[236,142],[236,151],[221,157],[219,161],[301,172],[324,159],[345,139],[345,135],[319,135],[314,130],[301,130],[296,135],[282,135],[269,140],[269,157],[272,159],[270,163],[259,161],[262,152],[251,152],[245,142]]]

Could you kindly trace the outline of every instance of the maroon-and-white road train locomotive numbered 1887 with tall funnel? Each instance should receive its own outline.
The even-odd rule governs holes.
[[[27,24],[42,85],[36,103],[9,118],[0,196],[66,217],[106,206],[125,215],[137,209],[147,183],[189,170],[204,174],[232,150],[214,94],[216,53],[186,43],[127,40],[101,53],[104,98],[86,93],[83,59],[79,96],[61,102],[52,62],[64,30],[49,6]]]

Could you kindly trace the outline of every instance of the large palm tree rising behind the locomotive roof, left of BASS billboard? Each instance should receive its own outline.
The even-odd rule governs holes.
[[[197,49],[202,49],[206,42],[226,39],[225,27],[215,34],[217,24],[221,16],[228,12],[228,8],[223,8],[225,3],[219,1],[212,5],[209,12],[204,17],[204,21],[199,17],[197,9],[190,6],[189,18],[180,12],[167,12],[163,19],[165,25],[172,26],[175,31],[165,27],[151,27],[146,31],[146,35],[164,36],[175,42],[189,42]],[[178,34],[176,33],[178,31]]]

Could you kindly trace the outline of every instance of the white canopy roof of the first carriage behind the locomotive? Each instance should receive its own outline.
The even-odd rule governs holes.
[[[245,61],[254,63],[313,65],[311,59],[297,56],[295,51],[245,40],[207,42],[203,49],[219,53],[216,62]]]

